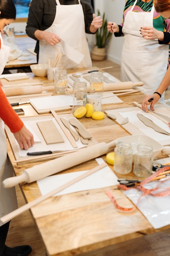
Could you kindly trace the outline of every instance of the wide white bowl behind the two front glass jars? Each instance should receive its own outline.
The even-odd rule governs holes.
[[[130,135],[130,136],[126,136],[126,137],[121,137],[121,138],[116,139],[116,143],[118,141],[130,142],[132,144],[133,158],[134,158],[135,150],[136,150],[138,144],[151,145],[152,148],[153,148],[153,157],[154,158],[163,149],[163,146],[159,142],[157,142],[155,139],[152,139],[149,136],[143,135],[143,134],[137,134],[137,135]]]

